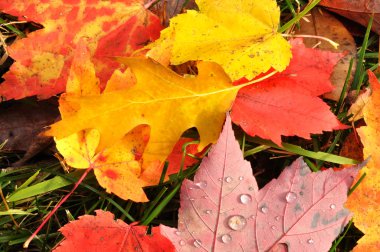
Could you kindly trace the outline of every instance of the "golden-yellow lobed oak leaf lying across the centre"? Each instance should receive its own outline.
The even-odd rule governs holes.
[[[233,86],[220,66],[200,62],[198,76],[182,77],[150,59],[121,61],[130,67],[137,83],[99,95],[62,96],[60,104],[74,107],[75,112],[52,125],[49,134],[60,139],[97,129],[102,150],[136,126],[149,125],[144,162],[163,161],[181,134],[192,127],[200,134],[200,149],[217,140],[225,113],[242,87]]]

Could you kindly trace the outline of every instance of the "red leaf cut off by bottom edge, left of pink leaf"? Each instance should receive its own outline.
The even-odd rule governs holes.
[[[83,215],[59,231],[65,239],[54,252],[71,251],[175,251],[173,244],[160,234],[159,227],[147,234],[147,226],[128,225],[115,220],[110,212],[96,210],[96,216]]]

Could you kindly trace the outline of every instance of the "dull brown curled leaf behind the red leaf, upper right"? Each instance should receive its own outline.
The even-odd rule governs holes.
[[[348,74],[350,60],[356,57],[356,44],[353,36],[337,18],[321,8],[312,9],[310,15],[307,16],[307,21],[305,19],[300,20],[300,26],[299,30],[296,29],[296,34],[322,36],[339,44],[338,48],[334,48],[327,41],[317,38],[304,38],[306,47],[345,54],[335,65],[330,77],[331,83],[335,88],[323,95],[324,98],[339,101]],[[354,61],[351,70],[351,79],[347,90],[350,89],[350,82],[352,81],[353,73],[355,73],[355,63],[356,61]]]

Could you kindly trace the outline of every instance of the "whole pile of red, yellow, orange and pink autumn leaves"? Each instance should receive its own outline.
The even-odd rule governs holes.
[[[148,202],[148,186],[181,188],[177,228],[150,229],[145,217],[141,226],[128,225],[97,211],[64,226],[56,251],[327,251],[352,218],[343,205],[361,166],[311,172],[298,158],[259,190],[232,130],[234,122],[281,148],[282,136],[310,139],[348,128],[319,98],[334,89],[330,76],[344,53],[287,41],[274,0],[196,4],[162,30],[140,0],[1,1],[1,11],[43,28],[10,46],[15,63],[0,95],[62,93],[61,119],[46,135],[64,163],[87,169],[84,176],[94,171],[99,185],[122,200]],[[174,65],[189,67],[188,74]],[[363,171],[371,179],[348,202],[366,233],[359,249],[366,250],[379,246],[372,219],[379,210],[380,84],[369,76],[367,126],[358,133],[365,158],[373,156]],[[183,136],[195,130],[198,138]],[[215,142],[198,170],[184,173]],[[150,205],[159,206],[149,210],[151,219],[169,202],[160,197]]]

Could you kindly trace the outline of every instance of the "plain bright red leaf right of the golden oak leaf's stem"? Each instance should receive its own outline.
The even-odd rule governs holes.
[[[257,84],[242,88],[232,107],[232,120],[252,136],[281,145],[281,135],[310,138],[310,134],[345,128],[320,96],[333,89],[330,75],[342,57],[306,48],[291,41],[288,68]],[[318,78],[316,78],[318,76]]]

